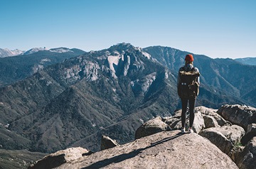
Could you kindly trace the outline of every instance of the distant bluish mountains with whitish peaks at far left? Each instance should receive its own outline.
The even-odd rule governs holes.
[[[75,48],[53,48],[50,50],[33,48],[23,53],[23,55],[0,58],[0,87],[23,80],[38,70],[42,70],[43,67],[83,53],[85,51]]]

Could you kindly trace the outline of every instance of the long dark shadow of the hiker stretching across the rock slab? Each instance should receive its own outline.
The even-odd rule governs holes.
[[[105,160],[100,160],[100,161],[97,161],[96,163],[92,163],[91,165],[85,167],[85,168],[82,168],[82,169],[89,169],[89,168],[103,168],[107,165],[110,165],[111,163],[119,163],[123,160],[127,160],[129,158],[134,158],[134,156],[137,156],[139,153],[141,153],[142,151],[146,150],[147,148],[151,148],[151,147],[154,147],[156,145],[159,145],[161,143],[164,143],[166,141],[170,141],[174,138],[177,138],[178,136],[181,136],[183,135],[184,133],[177,133],[176,135],[174,136],[171,136],[171,137],[167,137],[167,138],[164,138],[162,139],[161,141],[156,141],[155,143],[151,143],[150,146],[147,146],[145,148],[139,148],[137,150],[134,150],[130,153],[124,153],[124,154],[120,154],[119,156],[114,156],[112,158],[107,158]]]

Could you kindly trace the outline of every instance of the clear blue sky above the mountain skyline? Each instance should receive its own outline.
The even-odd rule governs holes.
[[[90,51],[125,42],[256,57],[255,9],[255,0],[1,0],[0,48]]]

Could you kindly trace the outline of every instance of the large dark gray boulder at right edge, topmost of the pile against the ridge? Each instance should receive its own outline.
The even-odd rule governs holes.
[[[249,124],[256,121],[256,109],[253,107],[247,107],[245,105],[228,105],[225,104],[217,111],[218,114],[223,116],[225,120],[230,121],[232,124],[242,126],[247,131]]]

